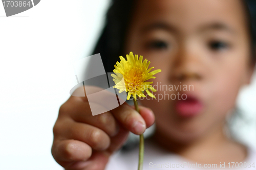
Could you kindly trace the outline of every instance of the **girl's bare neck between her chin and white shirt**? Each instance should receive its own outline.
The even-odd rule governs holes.
[[[189,142],[182,142],[174,140],[173,138],[168,138],[165,134],[156,130],[153,140],[164,147],[165,150],[167,149],[170,152],[174,152],[192,161],[202,163],[219,162],[220,160],[216,159],[216,157],[220,157],[219,155],[223,155],[223,153],[224,155],[226,153],[230,153],[229,150],[227,150],[227,148],[231,148],[230,145],[233,149],[237,149],[238,152],[240,152],[239,147],[241,148],[241,145],[234,143],[226,137],[223,131],[223,126],[224,124],[221,123],[215,128],[212,128],[210,132],[203,137]],[[243,159],[244,157],[240,157],[238,159]]]

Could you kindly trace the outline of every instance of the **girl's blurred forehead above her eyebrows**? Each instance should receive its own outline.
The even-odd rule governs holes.
[[[139,0],[133,22],[141,26],[154,21],[169,22],[184,32],[209,22],[223,22],[237,29],[246,25],[240,0]]]

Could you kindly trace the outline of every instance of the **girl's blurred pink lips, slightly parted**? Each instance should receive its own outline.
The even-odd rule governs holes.
[[[175,109],[181,117],[192,117],[200,114],[203,104],[194,96],[187,95],[186,100],[177,100]]]

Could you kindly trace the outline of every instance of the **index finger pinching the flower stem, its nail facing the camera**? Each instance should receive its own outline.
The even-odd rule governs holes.
[[[128,104],[124,103],[121,106],[111,110],[119,123],[127,130],[142,134],[146,129],[146,123],[143,117]]]

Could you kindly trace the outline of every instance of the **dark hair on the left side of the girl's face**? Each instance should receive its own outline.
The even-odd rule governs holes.
[[[106,72],[113,72],[114,65],[123,56],[124,39],[135,7],[134,0],[112,0],[106,13],[106,22],[93,54],[100,53]]]

